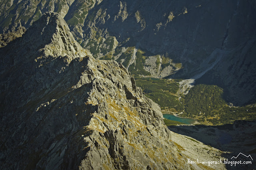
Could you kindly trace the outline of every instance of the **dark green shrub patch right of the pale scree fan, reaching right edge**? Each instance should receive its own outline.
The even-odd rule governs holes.
[[[235,120],[256,120],[256,104],[229,107],[224,101],[223,89],[214,85],[198,84],[190,89],[181,102],[185,106],[182,117],[193,117],[209,125],[223,125]]]

